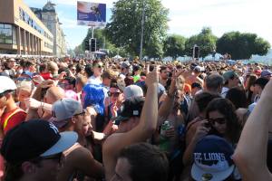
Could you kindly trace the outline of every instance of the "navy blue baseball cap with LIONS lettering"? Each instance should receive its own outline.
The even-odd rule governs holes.
[[[209,135],[199,140],[193,153],[191,176],[197,180],[224,180],[234,171],[234,148],[224,138]]]

